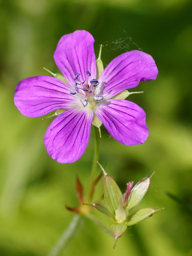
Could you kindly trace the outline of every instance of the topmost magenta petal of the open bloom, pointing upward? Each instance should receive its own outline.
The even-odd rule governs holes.
[[[91,74],[90,80],[96,78],[94,42],[93,36],[85,30],[64,35],[58,42],[54,60],[70,84],[74,84],[76,74],[80,74],[80,81],[87,80],[86,71]]]

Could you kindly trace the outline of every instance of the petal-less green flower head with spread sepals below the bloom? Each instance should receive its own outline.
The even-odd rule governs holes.
[[[126,231],[127,226],[137,224],[151,217],[154,213],[162,210],[163,208],[157,210],[153,208],[135,210],[147,192],[150,185],[150,179],[154,173],[149,178],[140,180],[133,188],[133,182],[128,182],[126,192],[122,194],[115,180],[106,173],[100,164],[99,166],[105,174],[105,204],[95,202],[89,205],[94,206],[97,210],[108,216],[113,221],[109,228],[115,238],[114,249],[117,244],[117,239]]]

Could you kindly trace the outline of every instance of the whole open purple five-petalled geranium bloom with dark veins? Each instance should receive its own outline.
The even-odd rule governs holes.
[[[84,30],[64,35],[54,60],[67,83],[50,76],[29,77],[15,90],[15,105],[25,116],[65,110],[44,137],[48,154],[59,163],[72,163],[83,155],[95,116],[125,145],[142,144],[148,137],[143,109],[115,96],[139,81],[155,79],[154,60],[142,51],[129,51],[112,60],[97,78],[93,43],[92,35]]]

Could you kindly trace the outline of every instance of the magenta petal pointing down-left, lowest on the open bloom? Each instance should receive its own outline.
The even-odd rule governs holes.
[[[73,163],[84,153],[93,120],[91,110],[70,109],[57,116],[48,127],[44,144],[48,154],[59,163]]]

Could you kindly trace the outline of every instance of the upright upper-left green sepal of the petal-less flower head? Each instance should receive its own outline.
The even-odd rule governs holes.
[[[119,197],[122,195],[118,184],[113,180],[113,178],[105,173],[104,177],[104,199],[105,203],[112,213],[115,215],[115,210],[119,206]]]

